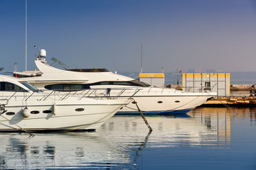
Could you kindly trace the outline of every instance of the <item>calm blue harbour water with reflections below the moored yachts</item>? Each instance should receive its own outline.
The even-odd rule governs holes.
[[[114,116],[96,132],[0,134],[0,169],[256,169],[256,108]]]

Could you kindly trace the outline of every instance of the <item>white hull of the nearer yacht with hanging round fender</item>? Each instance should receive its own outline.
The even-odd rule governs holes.
[[[123,101],[123,100],[122,100]],[[73,131],[95,130],[124,103],[111,100],[82,101],[9,101],[0,116],[0,131]],[[24,117],[28,108],[28,118]]]

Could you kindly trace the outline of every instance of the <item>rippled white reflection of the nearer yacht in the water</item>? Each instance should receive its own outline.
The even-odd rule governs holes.
[[[0,135],[0,169],[78,169],[125,163],[127,153],[97,132]]]

